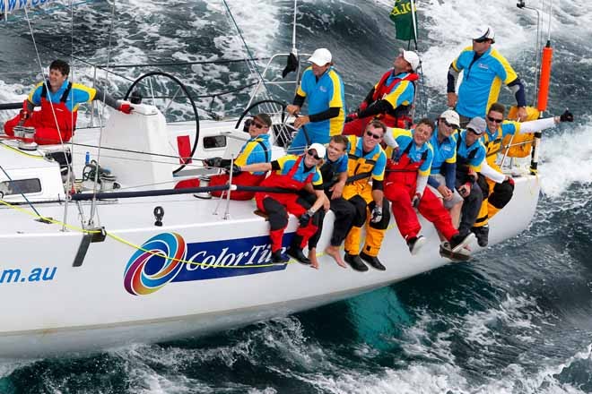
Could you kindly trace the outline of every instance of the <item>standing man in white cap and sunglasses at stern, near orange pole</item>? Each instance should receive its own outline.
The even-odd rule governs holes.
[[[524,84],[508,60],[492,47],[495,33],[485,26],[474,36],[473,46],[466,47],[450,64],[448,70],[448,107],[455,107],[460,125],[465,127],[474,116],[485,116],[487,109],[500,95],[501,83],[514,93],[518,103],[518,120],[527,118]],[[458,74],[463,81],[457,89]]]

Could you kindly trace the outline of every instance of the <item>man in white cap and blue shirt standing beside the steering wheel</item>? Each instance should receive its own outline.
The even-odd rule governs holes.
[[[344,82],[335,72],[332,59],[324,47],[310,56],[312,65],[302,73],[296,96],[286,107],[289,114],[298,116],[304,100],[309,99],[309,115],[299,116],[294,122],[300,131],[288,150],[291,153],[300,153],[313,142],[328,143],[332,135],[344,129]]]

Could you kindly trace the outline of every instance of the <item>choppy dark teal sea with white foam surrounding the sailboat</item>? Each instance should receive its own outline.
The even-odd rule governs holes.
[[[425,83],[419,115],[437,116],[444,109],[448,64],[486,23],[496,30],[496,47],[532,97],[536,17],[515,3],[421,3]],[[292,2],[228,4],[254,56],[290,50]],[[331,49],[349,107],[357,107],[397,48],[406,45],[394,39],[389,4],[300,2],[298,47],[307,53]],[[544,7],[546,30],[549,2],[527,4]],[[116,2],[113,23],[111,5],[77,5],[74,25],[69,8],[31,14],[41,63],[74,56],[81,59],[74,62],[75,78],[90,81],[91,67],[82,60],[139,64],[246,56],[220,1],[122,0]],[[551,28],[550,111],[559,114],[569,107],[577,119],[545,133],[543,195],[532,225],[520,236],[478,253],[470,263],[208,338],[0,362],[0,393],[591,392],[592,5],[585,0],[554,4]],[[41,71],[31,61],[37,51],[22,15],[9,16],[0,29],[5,37],[0,100],[9,102],[26,93]],[[162,68],[181,75],[196,95],[254,81],[242,64],[168,67]],[[109,77],[109,91],[122,96],[128,79],[146,71]],[[512,101],[508,91],[502,98]],[[248,90],[239,90],[198,104],[232,116],[246,99]],[[397,263],[396,258],[385,262]]]

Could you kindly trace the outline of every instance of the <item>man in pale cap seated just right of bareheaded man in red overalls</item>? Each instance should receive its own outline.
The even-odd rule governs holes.
[[[457,129],[458,114],[448,109],[440,115],[436,130],[431,134],[431,148],[434,157],[431,162],[428,187],[450,212],[452,222],[457,225],[463,198],[457,192]]]

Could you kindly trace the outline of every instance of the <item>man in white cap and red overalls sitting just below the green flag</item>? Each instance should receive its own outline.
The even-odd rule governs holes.
[[[407,121],[411,119],[407,115],[414,102],[414,82],[419,79],[415,72],[419,65],[420,59],[415,52],[402,49],[393,62],[393,69],[382,75],[358,110],[347,116],[344,134],[361,136],[366,124],[374,117],[387,127],[408,127]]]

